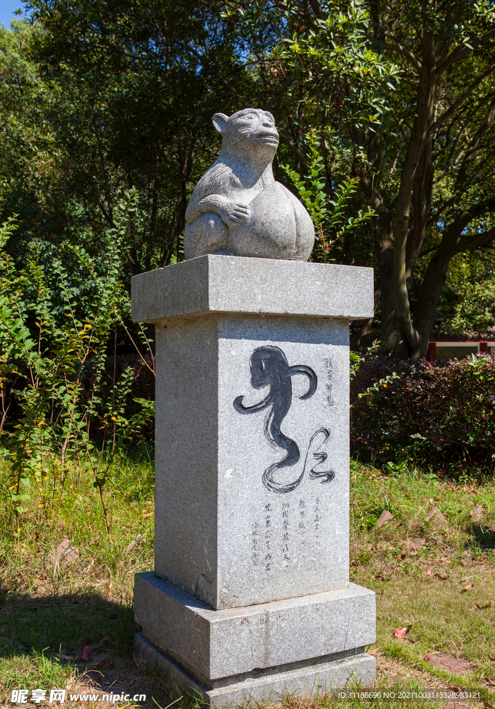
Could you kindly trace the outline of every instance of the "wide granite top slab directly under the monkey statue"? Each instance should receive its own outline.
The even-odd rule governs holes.
[[[132,320],[195,313],[372,318],[373,269],[209,254],[132,278]]]

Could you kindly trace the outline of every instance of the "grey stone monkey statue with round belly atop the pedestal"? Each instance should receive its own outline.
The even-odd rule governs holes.
[[[188,203],[186,259],[220,252],[307,261],[314,226],[297,197],[273,177],[278,132],[271,113],[215,113],[213,125],[222,133],[222,149]]]

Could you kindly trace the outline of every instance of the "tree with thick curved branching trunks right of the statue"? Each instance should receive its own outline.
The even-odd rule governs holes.
[[[249,16],[251,4],[232,5]],[[322,143],[322,190],[335,204],[338,186],[359,177],[362,194],[349,205],[354,218],[366,206],[375,212],[380,337],[395,354],[417,359],[426,352],[451,259],[495,237],[493,4],[274,6],[296,18],[297,30],[271,53],[258,43],[253,74],[272,91],[283,86],[280,105],[292,135],[282,141],[309,182],[314,166],[305,133],[328,125],[338,135],[339,150],[335,141]],[[294,26],[286,18],[289,33]],[[363,246],[362,229],[347,232],[334,257],[370,264]]]

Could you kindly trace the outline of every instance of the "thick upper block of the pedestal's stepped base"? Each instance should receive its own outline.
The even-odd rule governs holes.
[[[208,681],[356,652],[375,642],[375,593],[355,584],[212,610],[149,571],[136,575],[135,598],[135,619],[148,639]]]

